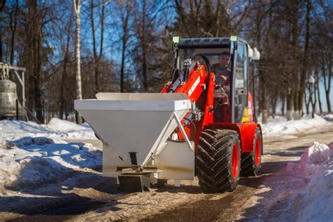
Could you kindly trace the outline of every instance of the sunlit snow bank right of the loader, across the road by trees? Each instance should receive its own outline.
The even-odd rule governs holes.
[[[287,134],[300,133],[309,129],[320,128],[329,124],[324,118],[315,115],[315,118],[305,117],[303,119],[287,121],[285,118],[268,119],[268,124],[261,124],[264,136],[283,136]]]

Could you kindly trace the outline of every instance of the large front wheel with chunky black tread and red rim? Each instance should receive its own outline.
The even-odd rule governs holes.
[[[232,159],[234,150],[237,150],[235,167]],[[240,178],[240,140],[237,132],[221,129],[202,131],[195,166],[199,185],[204,191],[235,190]]]

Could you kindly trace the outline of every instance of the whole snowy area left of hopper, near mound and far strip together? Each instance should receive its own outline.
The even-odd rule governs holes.
[[[101,150],[63,139],[96,138],[88,124],[51,119],[46,125],[0,121],[0,195],[62,181],[73,171],[96,169]]]

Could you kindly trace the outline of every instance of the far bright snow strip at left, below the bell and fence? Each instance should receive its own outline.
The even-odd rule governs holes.
[[[0,144],[4,140],[15,140],[24,136],[48,137],[48,138],[93,138],[95,133],[88,124],[77,125],[61,119],[51,119],[48,124],[36,124],[34,122],[24,122],[18,120],[0,121]]]

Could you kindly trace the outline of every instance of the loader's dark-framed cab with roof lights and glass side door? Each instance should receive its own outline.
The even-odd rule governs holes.
[[[214,122],[244,122],[244,111],[248,106],[247,50],[247,42],[237,37],[178,39],[178,42],[174,39],[176,68],[182,70],[184,60],[192,58],[199,60],[200,64],[209,66],[211,73],[215,75]],[[230,63],[226,69],[230,74],[220,73],[222,69],[218,67],[221,56],[226,53],[230,55]],[[209,59],[209,64],[198,55],[205,55]],[[221,77],[226,80],[224,84],[218,81]]]

